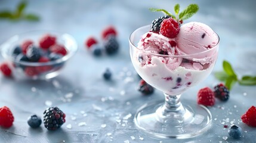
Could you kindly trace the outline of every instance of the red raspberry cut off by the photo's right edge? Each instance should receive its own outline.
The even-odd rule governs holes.
[[[256,108],[252,106],[246,111],[245,114],[241,117],[243,123],[246,123],[248,126],[256,127]]]

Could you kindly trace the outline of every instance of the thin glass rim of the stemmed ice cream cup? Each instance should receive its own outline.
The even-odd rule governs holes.
[[[140,49],[138,48],[137,46],[134,45],[133,42],[131,42],[131,38],[133,35],[135,35],[135,33],[138,31],[138,30],[141,30],[141,29],[144,29],[146,27],[150,27],[150,24],[149,25],[146,25],[146,26],[141,26],[139,27],[138,29],[135,29],[129,36],[129,44],[132,45],[133,47],[135,47],[138,51],[141,51],[141,52],[144,52],[146,54],[151,54],[151,55],[156,55],[156,56],[159,56],[159,57],[190,57],[190,56],[195,56],[195,55],[201,55],[201,54],[204,54],[204,53],[207,53],[207,52],[210,52],[210,51],[213,51],[214,49],[216,49],[219,45],[220,45],[220,36],[218,36],[218,34],[216,32],[214,32],[217,36],[218,36],[218,42],[217,44],[210,48],[210,49],[207,49],[206,51],[202,51],[202,52],[198,52],[198,53],[195,53],[195,54],[184,54],[184,55],[162,55],[162,54],[155,54],[155,53],[152,53],[152,52],[147,52],[147,51],[143,51],[143,49]],[[148,31],[149,32],[149,31]],[[141,35],[142,36],[142,35]]]

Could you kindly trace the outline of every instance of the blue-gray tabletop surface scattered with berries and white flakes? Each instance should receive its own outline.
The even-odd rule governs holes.
[[[14,10],[18,2],[2,0],[0,10]],[[177,2],[181,9],[197,3],[199,13],[187,22],[203,22],[220,35],[220,55],[214,71],[221,70],[222,61],[228,60],[239,76],[256,74],[255,1],[29,1],[26,11],[40,15],[41,21],[0,20],[0,42],[28,30],[57,30],[74,36],[79,51],[61,74],[51,80],[17,80],[1,75],[0,106],[10,107],[15,121],[9,129],[0,128],[0,142],[256,142],[256,129],[240,120],[251,105],[256,105],[256,86],[235,85],[229,101],[217,101],[209,108],[213,117],[211,129],[195,138],[155,138],[135,128],[133,117],[137,108],[146,102],[164,100],[164,95],[155,91],[146,97],[136,90],[139,79],[129,58],[128,38],[132,30],[150,24],[161,15],[148,8],[171,11]],[[84,48],[84,41],[90,35],[100,39],[101,30],[109,24],[118,29],[121,50],[112,57],[95,58]],[[1,57],[0,61],[4,59]],[[109,82],[102,77],[106,67],[113,72]],[[197,91],[216,83],[211,74],[184,92],[181,101],[196,104]],[[38,129],[27,125],[30,114],[42,117],[46,102],[67,115],[66,123],[55,132],[49,132],[43,125]],[[83,122],[86,125],[79,126]],[[232,123],[243,129],[242,138],[230,138],[223,128]]]

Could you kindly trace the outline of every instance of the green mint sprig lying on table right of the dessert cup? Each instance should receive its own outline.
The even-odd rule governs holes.
[[[242,76],[241,79],[238,79],[237,74],[228,61],[223,61],[223,70],[224,71],[215,72],[214,75],[218,80],[225,82],[225,85],[230,90],[236,82],[238,82],[239,85],[256,85],[256,76],[246,75]]]

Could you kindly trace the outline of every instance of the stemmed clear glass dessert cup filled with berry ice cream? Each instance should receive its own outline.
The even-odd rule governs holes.
[[[190,138],[200,135],[211,127],[210,111],[196,102],[181,104],[180,97],[184,91],[209,76],[217,60],[220,38],[216,46],[197,54],[153,54],[137,47],[141,36],[149,29],[150,26],[144,26],[131,33],[131,61],[137,73],[147,83],[164,92],[165,102],[152,102],[140,107],[134,117],[135,125],[162,138]],[[186,64],[201,64],[203,69],[191,69],[184,66]]]

